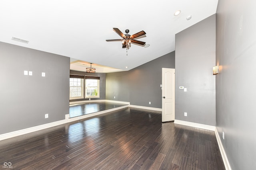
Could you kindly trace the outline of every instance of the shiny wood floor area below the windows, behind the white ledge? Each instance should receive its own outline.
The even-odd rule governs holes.
[[[70,117],[77,117],[125,105],[127,104],[113,102],[88,102],[82,104],[73,104],[69,106],[69,115]]]

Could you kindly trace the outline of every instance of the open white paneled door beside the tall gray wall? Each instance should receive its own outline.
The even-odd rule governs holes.
[[[175,119],[175,69],[162,68],[162,122]]]

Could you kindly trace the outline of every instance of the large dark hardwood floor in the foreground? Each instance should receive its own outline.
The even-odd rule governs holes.
[[[0,141],[0,167],[18,170],[224,170],[213,131],[162,123],[127,107]]]

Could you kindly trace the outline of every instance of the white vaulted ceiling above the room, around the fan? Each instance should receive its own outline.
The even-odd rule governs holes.
[[[218,0],[1,0],[0,41],[70,57],[72,62],[130,70],[174,51],[175,34],[215,14],[217,4]],[[180,15],[174,16],[176,10]],[[189,15],[192,19],[186,20]],[[121,38],[113,27],[123,33],[129,29],[130,35],[145,31],[146,37],[138,40],[150,47],[132,44],[126,56],[121,42],[105,41]]]

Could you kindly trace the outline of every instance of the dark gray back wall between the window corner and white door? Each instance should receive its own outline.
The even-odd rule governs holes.
[[[174,51],[129,71],[107,73],[106,99],[162,108],[162,68],[175,68]]]

